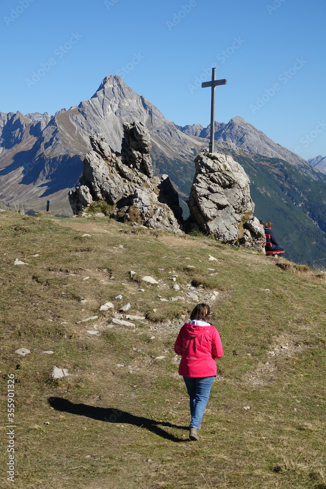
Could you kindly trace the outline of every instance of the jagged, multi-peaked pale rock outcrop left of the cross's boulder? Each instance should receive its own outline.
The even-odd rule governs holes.
[[[115,219],[181,233],[177,192],[167,175],[153,177],[149,131],[141,122],[126,123],[124,130],[121,154],[103,136],[91,134],[93,149],[85,157],[80,185],[69,192],[74,214],[99,200],[111,206]]]

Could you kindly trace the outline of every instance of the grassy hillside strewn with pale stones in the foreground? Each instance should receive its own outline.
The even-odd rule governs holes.
[[[326,274],[106,219],[2,212],[0,236],[2,426],[10,374],[17,426],[15,483],[2,449],[1,487],[326,488]],[[210,302],[224,347],[199,442],[173,352],[188,293]],[[138,319],[118,325],[128,302]]]

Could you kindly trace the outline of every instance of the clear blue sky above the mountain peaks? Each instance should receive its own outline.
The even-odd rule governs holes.
[[[326,156],[325,18],[325,0],[2,0],[0,111],[53,114],[120,74],[168,119],[207,126],[196,85],[216,66],[217,121]]]

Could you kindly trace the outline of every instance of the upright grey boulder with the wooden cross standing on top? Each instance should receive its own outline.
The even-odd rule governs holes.
[[[218,241],[260,249],[263,234],[253,217],[250,180],[232,156],[202,151],[195,159],[196,174],[188,206],[199,228]]]

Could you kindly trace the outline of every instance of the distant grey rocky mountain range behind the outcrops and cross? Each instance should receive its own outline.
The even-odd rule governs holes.
[[[134,120],[151,133],[155,174],[169,174],[186,209],[194,157],[208,146],[210,127],[177,126],[119,76],[106,77],[89,100],[54,116],[0,112],[0,200],[19,200],[34,210],[44,210],[50,200],[53,214],[69,215],[67,194],[83,171],[89,134],[102,133],[120,151],[122,124]],[[326,258],[326,176],[318,168],[322,160],[313,166],[242,117],[215,124],[216,151],[231,153],[252,181],[255,215],[275,221],[280,242],[290,239],[295,260]]]

